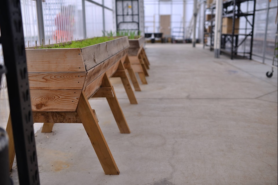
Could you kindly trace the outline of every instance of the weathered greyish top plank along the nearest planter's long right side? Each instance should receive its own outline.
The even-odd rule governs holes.
[[[86,70],[89,71],[89,69],[92,69],[97,64],[100,64],[111,56],[117,54],[119,51],[128,47],[128,38],[127,36],[124,36],[100,44],[81,48]]]

